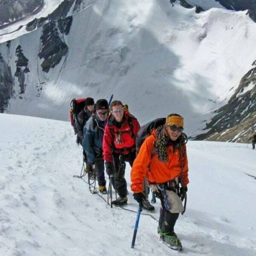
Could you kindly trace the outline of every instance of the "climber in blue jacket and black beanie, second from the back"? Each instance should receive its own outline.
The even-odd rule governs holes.
[[[105,166],[103,159],[102,140],[108,117],[108,101],[99,99],[96,102],[96,114],[91,116],[84,126],[84,140],[82,146],[87,155],[88,165],[95,165],[97,170],[99,192],[107,193],[105,180]]]

